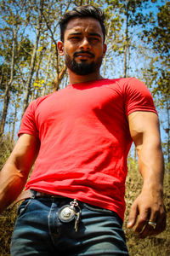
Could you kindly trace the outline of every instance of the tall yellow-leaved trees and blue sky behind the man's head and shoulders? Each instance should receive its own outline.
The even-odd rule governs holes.
[[[154,88],[155,95],[162,91],[165,76],[169,83],[169,1],[1,0],[0,3],[0,106],[3,106],[0,133],[7,127],[16,137],[29,102],[68,83],[64,60],[57,53],[59,17],[81,4],[94,4],[105,11],[107,53],[101,68],[104,76],[143,79],[150,90]],[[157,102],[158,98],[156,105],[159,105]],[[159,102],[164,108],[165,97]]]

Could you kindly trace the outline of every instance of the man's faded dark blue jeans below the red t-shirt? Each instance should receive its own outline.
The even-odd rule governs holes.
[[[77,232],[75,221],[63,223],[59,209],[68,198],[26,199],[19,207],[11,241],[11,256],[128,255],[122,219],[115,212],[79,201],[82,216]]]

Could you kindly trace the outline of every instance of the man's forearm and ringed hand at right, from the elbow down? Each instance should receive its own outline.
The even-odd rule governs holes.
[[[161,148],[151,143],[139,152],[139,171],[143,177],[142,191],[133,202],[129,213],[128,228],[134,226],[139,237],[159,234],[166,227],[166,209],[163,203],[164,165]],[[156,224],[156,229],[148,221]]]

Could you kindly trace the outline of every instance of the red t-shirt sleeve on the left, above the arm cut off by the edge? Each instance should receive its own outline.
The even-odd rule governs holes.
[[[35,103],[31,102],[31,104],[26,108],[26,112],[23,115],[20,131],[18,136],[20,137],[21,134],[26,133],[38,137],[38,130],[35,120]]]

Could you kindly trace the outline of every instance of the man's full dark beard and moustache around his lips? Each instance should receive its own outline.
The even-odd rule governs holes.
[[[99,70],[99,67],[101,67],[101,63],[103,60],[103,55],[99,56],[97,61],[91,61],[90,63],[87,63],[87,61],[82,60],[80,63],[77,63],[77,61],[75,60],[75,57],[77,54],[80,54],[80,53],[85,53],[85,52],[84,51],[76,52],[73,55],[72,59],[70,55],[65,54],[66,67],[71,69],[73,73],[76,73],[77,75],[81,75],[81,76],[88,75],[90,73],[94,73]],[[88,54],[94,56],[94,54],[91,54],[91,53],[88,53]]]

